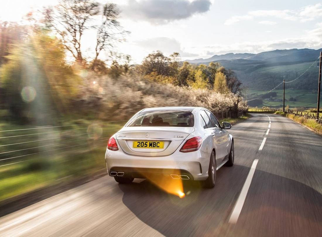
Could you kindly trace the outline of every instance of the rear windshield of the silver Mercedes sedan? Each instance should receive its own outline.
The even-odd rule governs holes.
[[[127,127],[193,127],[194,115],[187,111],[151,111],[137,114]]]

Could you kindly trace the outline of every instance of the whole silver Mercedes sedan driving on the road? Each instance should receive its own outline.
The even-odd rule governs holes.
[[[201,107],[142,109],[109,139],[108,173],[118,183],[166,175],[214,187],[216,171],[234,164],[231,127]]]

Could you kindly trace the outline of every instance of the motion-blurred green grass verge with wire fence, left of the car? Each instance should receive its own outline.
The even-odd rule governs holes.
[[[0,202],[52,185],[71,183],[106,170],[104,154],[107,141],[111,134],[123,126],[123,123],[113,123],[109,126],[97,122],[90,123],[90,121],[81,123],[89,125],[86,125],[84,129],[73,123],[60,130],[51,128],[50,130],[41,129],[41,131],[36,129],[37,131],[2,132],[0,135],[10,137],[54,131],[48,134],[0,139],[0,146],[2,145],[0,151],[4,152],[0,154],[0,158],[3,159],[0,161]],[[9,123],[0,125],[2,125],[0,130],[28,128]],[[75,130],[66,131],[70,129]],[[43,138],[50,139],[23,143]],[[11,143],[22,144],[5,146]],[[16,156],[17,158],[11,159]],[[6,160],[6,158],[10,159]],[[15,162],[21,163],[13,164]]]

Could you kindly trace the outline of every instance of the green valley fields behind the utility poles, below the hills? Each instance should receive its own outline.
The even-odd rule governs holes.
[[[248,98],[256,98],[260,95],[263,95],[265,91],[260,90],[249,90]],[[277,93],[277,96],[274,99],[283,100],[283,90],[274,90]],[[295,98],[296,101],[289,101],[289,98]],[[307,90],[296,90],[296,89],[286,89],[285,90],[285,106],[289,107],[307,107],[315,108],[317,106],[317,93],[312,93]],[[320,100],[322,102],[322,100]],[[268,101],[263,99],[263,103],[257,107],[261,108],[263,106],[267,107],[283,107],[283,101]]]

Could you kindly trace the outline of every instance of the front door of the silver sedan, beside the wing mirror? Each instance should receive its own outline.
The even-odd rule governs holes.
[[[228,155],[228,149],[229,149],[229,134],[228,132],[223,129],[216,117],[211,113],[210,111],[206,110],[207,115],[209,116],[211,122],[214,125],[215,128],[215,137],[217,142],[217,147],[220,150],[220,162],[223,162],[223,160]]]

